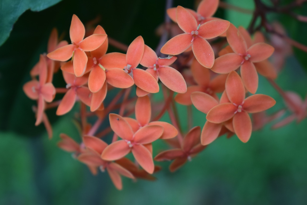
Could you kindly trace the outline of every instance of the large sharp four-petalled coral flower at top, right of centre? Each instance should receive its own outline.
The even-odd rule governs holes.
[[[185,32],[171,38],[161,48],[161,53],[177,55],[192,46],[197,61],[206,68],[214,63],[214,52],[206,39],[223,34],[229,27],[229,21],[212,20],[197,24],[195,17],[184,7],[177,6],[176,18],[178,26]]]

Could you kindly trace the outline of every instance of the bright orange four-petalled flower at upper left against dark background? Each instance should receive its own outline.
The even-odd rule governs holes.
[[[92,34],[84,38],[84,25],[75,14],[72,16],[69,34],[72,44],[52,51],[47,54],[47,57],[58,61],[67,61],[72,57],[75,75],[80,77],[84,74],[87,64],[87,55],[85,51],[92,51],[101,46],[107,39],[107,34]]]

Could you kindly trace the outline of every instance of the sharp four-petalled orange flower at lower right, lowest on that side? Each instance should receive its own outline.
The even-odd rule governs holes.
[[[248,113],[261,112],[273,107],[276,101],[264,94],[254,94],[245,98],[243,82],[235,71],[228,74],[225,90],[230,102],[213,107],[206,119],[211,123],[223,123],[231,118],[235,134],[246,143],[252,132],[251,118]]]

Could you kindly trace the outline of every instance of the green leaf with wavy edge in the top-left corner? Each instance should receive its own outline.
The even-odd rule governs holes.
[[[26,10],[41,11],[61,0],[0,0],[0,46],[9,37],[14,23]]]

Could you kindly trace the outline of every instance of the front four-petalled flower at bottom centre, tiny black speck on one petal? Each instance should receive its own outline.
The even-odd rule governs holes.
[[[131,151],[140,166],[152,174],[154,171],[152,154],[144,145],[159,139],[163,133],[163,127],[147,125],[134,133],[129,123],[120,115],[111,113],[109,120],[112,130],[123,140],[116,141],[106,147],[101,158],[107,161],[117,160]]]

